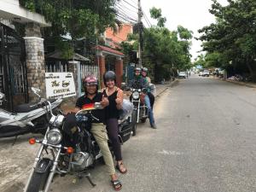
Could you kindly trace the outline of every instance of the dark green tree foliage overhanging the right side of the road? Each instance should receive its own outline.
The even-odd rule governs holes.
[[[243,66],[256,80],[256,1],[229,0],[222,6],[212,0],[210,13],[216,23],[199,30],[206,58],[212,58],[213,66],[230,68]],[[218,56],[214,56],[218,53]],[[220,63],[222,62],[222,63]]]

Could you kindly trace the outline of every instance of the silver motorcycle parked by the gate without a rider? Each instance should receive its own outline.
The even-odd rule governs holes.
[[[29,132],[44,134],[47,130],[48,102],[41,98],[40,90],[32,87],[32,92],[38,96],[38,102],[18,105],[13,113],[0,108],[0,137],[18,137]],[[4,100],[4,94],[0,92],[0,104]],[[57,108],[62,99],[51,99],[49,102],[52,108]]]

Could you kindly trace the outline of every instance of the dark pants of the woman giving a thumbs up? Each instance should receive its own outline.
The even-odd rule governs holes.
[[[108,119],[107,120],[107,131],[109,140],[112,143],[113,154],[115,156],[115,160],[122,160],[121,154],[121,145],[119,142],[119,127],[118,127],[118,119]]]

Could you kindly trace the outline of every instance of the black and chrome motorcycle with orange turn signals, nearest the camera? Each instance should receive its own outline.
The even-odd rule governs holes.
[[[81,109],[75,114],[77,131],[74,143],[70,143],[67,132],[63,128],[67,117],[63,113],[54,115],[50,108],[51,118],[44,139],[31,138],[29,140],[31,144],[40,143],[41,147],[26,183],[26,192],[48,192],[55,174],[87,177],[89,182],[95,186],[90,179],[88,168],[94,166],[96,160],[102,160],[102,153],[94,137],[90,134],[90,122],[92,119],[96,119],[91,111],[101,108],[101,104],[96,102],[93,108]],[[131,113],[126,113],[124,119],[119,119],[120,143],[125,143],[131,137],[129,116]],[[111,150],[111,143],[109,143],[109,148]]]

